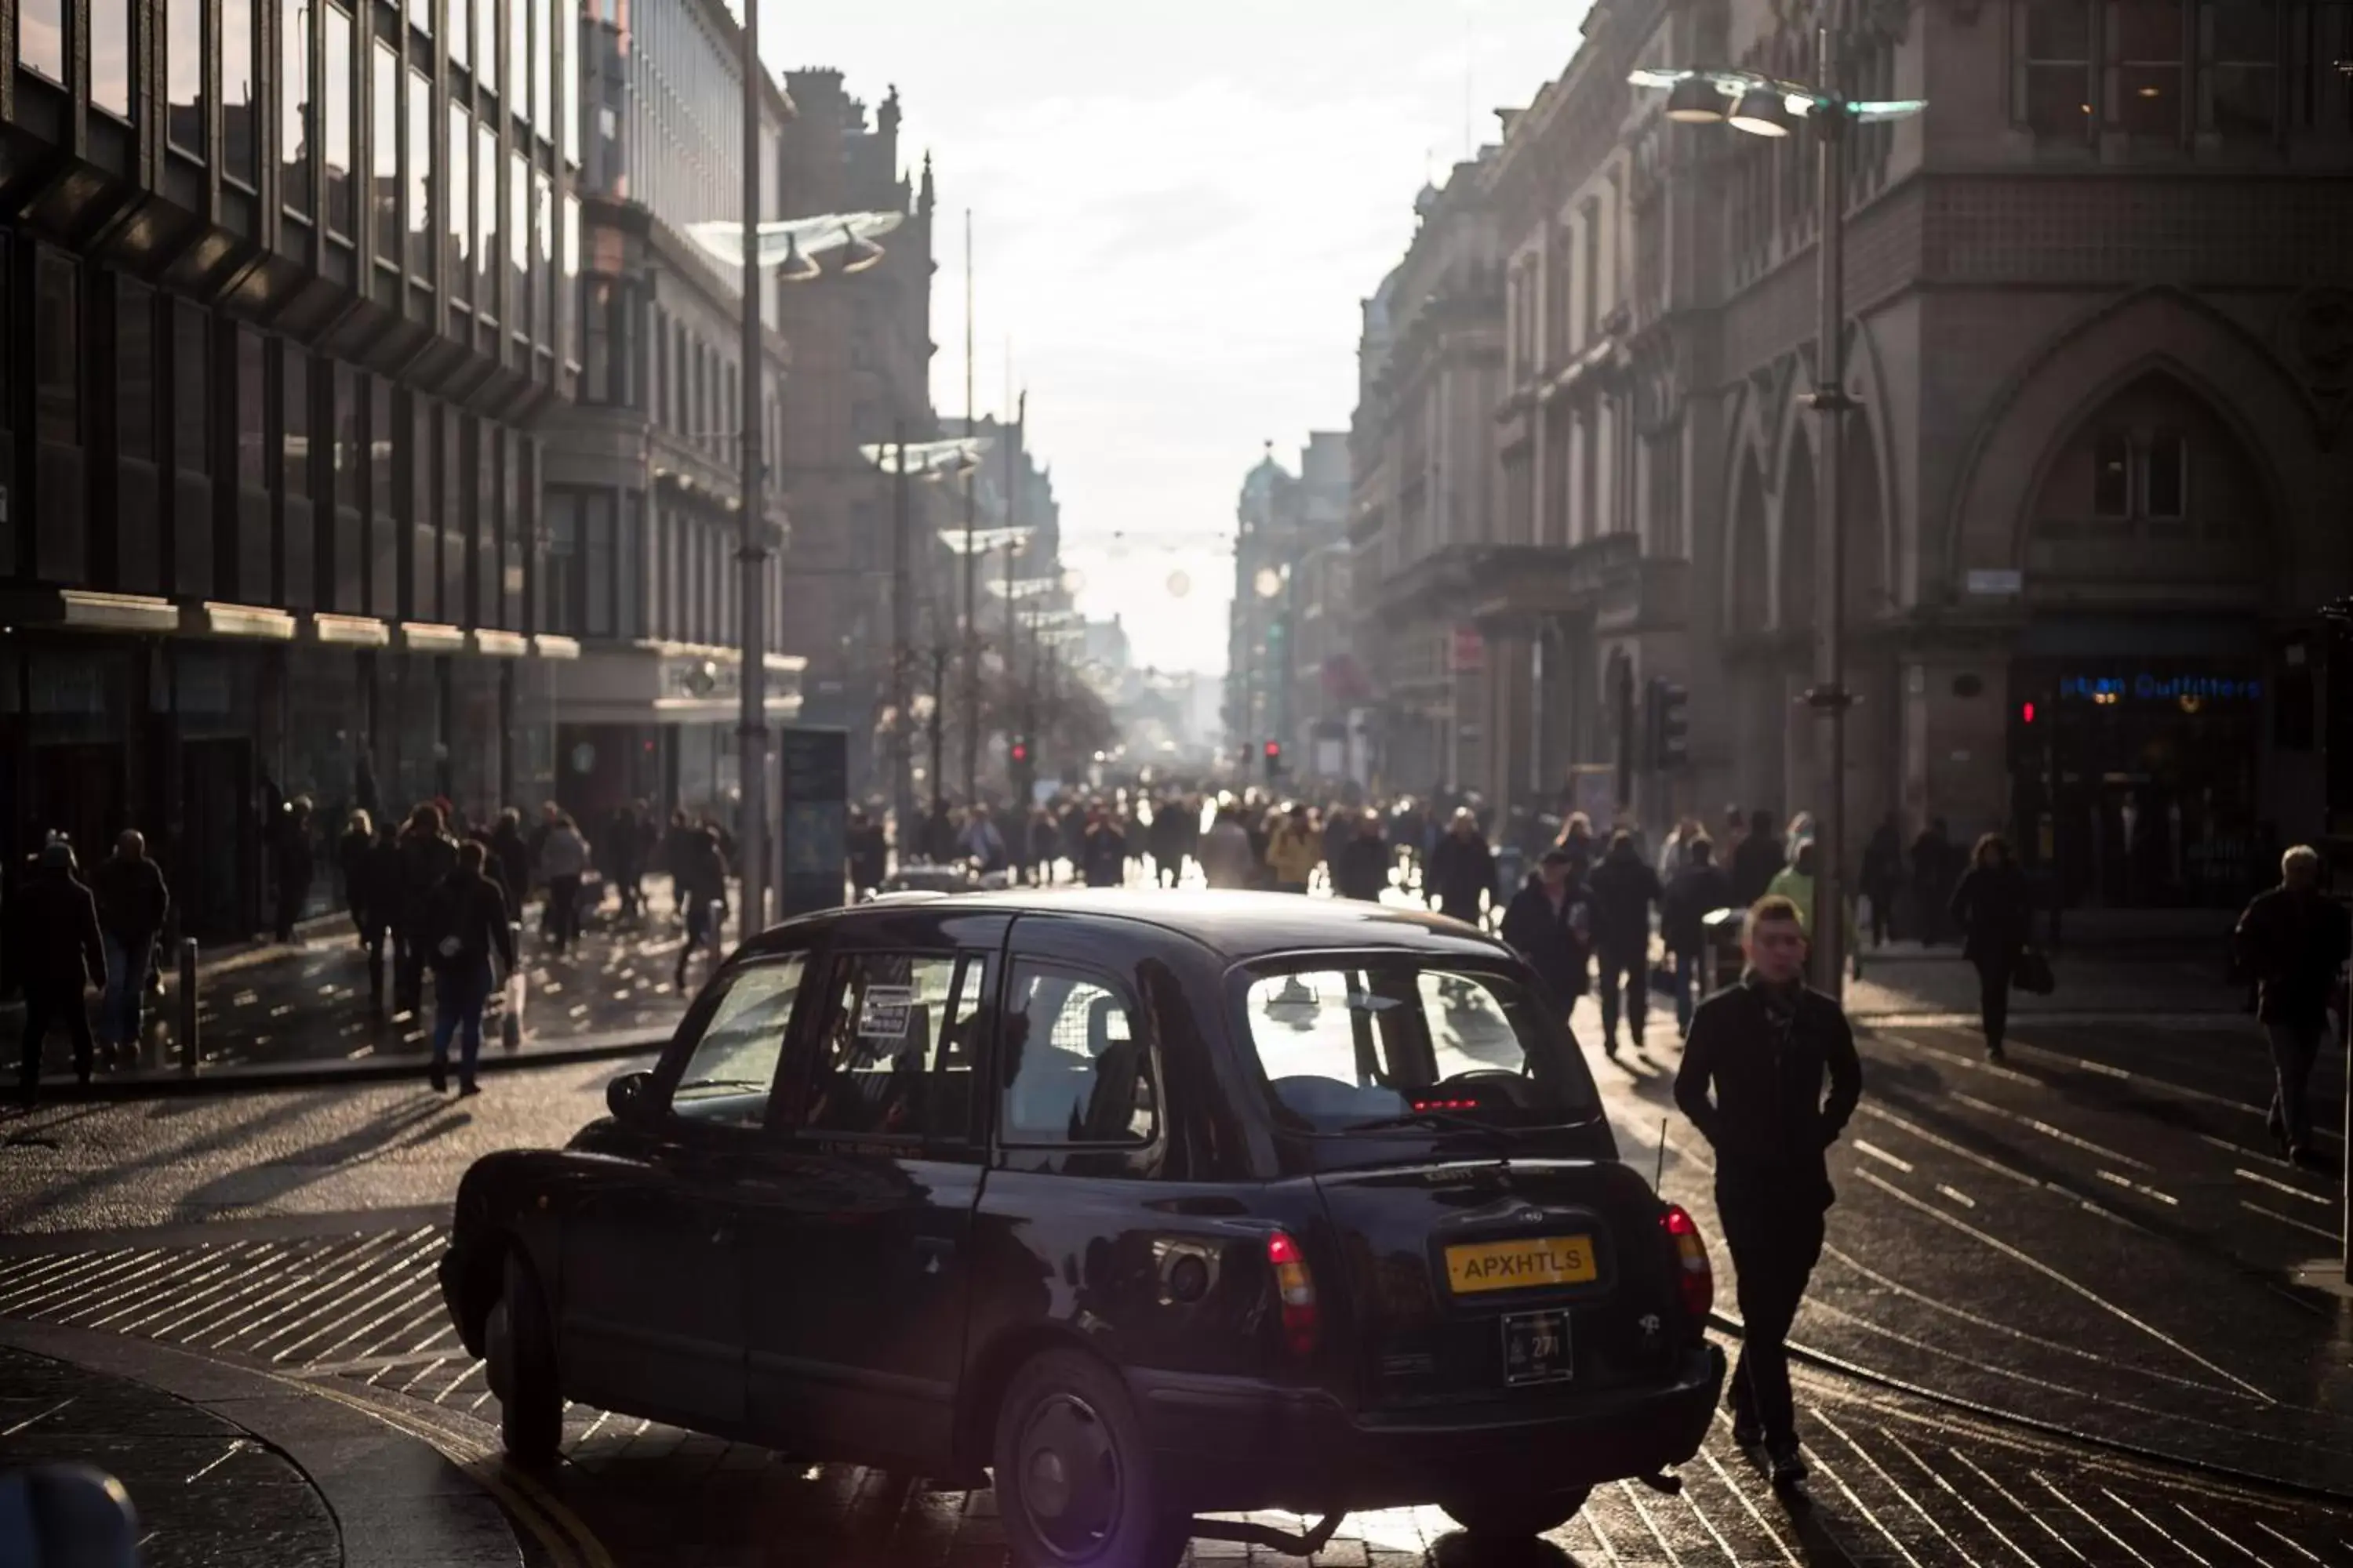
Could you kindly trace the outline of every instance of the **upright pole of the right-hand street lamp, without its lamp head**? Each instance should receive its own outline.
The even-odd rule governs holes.
[[[1819,61],[1817,82],[1831,94],[1828,108],[1817,108],[1807,120],[1821,143],[1821,190],[1817,207],[1821,268],[1821,320],[1814,348],[1814,407],[1821,428],[1821,463],[1817,473],[1814,529],[1814,689],[1807,703],[1824,719],[1817,757],[1824,778],[1821,811],[1814,830],[1814,957],[1817,985],[1831,997],[1845,994],[1847,983],[1847,108],[1838,80],[1838,35],[1833,26],[1817,33]]]

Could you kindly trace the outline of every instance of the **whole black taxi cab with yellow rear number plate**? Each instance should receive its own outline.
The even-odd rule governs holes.
[[[1435,1502],[1534,1535],[1706,1434],[1689,1215],[1541,983],[1278,893],[896,896],[734,952],[562,1150],[464,1178],[442,1291],[562,1406],[948,1483],[1024,1563]]]

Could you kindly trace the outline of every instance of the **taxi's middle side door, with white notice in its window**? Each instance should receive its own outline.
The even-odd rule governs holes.
[[[805,1453],[951,1453],[981,1190],[981,1053],[1007,919],[838,943],[805,1060],[739,1187],[751,1425]]]

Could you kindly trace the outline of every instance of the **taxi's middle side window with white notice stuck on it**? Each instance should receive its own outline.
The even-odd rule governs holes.
[[[986,983],[984,957],[842,959],[802,1128],[835,1138],[969,1138]]]

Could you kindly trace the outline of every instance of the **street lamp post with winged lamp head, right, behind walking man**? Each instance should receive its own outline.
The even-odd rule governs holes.
[[[1821,423],[1821,463],[1814,491],[1814,686],[1807,708],[1828,719],[1819,743],[1828,780],[1814,832],[1814,936],[1817,978],[1826,992],[1845,990],[1847,922],[1847,505],[1845,414],[1854,400],[1845,386],[1845,169],[1847,129],[1901,120],[1927,108],[1925,99],[1857,101],[1838,87],[1838,21],[1817,33],[1819,82],[1784,82],[1755,71],[1645,68],[1631,73],[1635,87],[1668,89],[1666,118],[1682,125],[1732,125],[1751,136],[1788,136],[1800,120],[1814,127],[1821,155],[1817,190],[1819,310],[1814,390],[1807,407]],[[1727,108],[1729,103],[1729,108]]]

